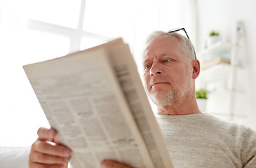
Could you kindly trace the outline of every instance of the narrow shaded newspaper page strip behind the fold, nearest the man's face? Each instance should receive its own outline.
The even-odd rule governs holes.
[[[144,92],[133,56],[128,45],[121,45],[119,40],[115,41],[115,45],[100,45],[90,50],[105,47],[109,52],[110,62],[114,66],[114,71],[142,134],[154,167],[172,168],[173,163],[170,159],[166,142],[151,110],[147,94]]]

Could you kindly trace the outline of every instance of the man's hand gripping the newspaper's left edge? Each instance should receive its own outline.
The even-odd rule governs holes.
[[[56,131],[41,127],[37,134],[39,138],[32,145],[29,154],[29,168],[67,167],[72,151],[60,144],[53,144]]]

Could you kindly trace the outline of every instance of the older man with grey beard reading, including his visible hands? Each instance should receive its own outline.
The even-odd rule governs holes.
[[[198,109],[195,79],[200,64],[188,36],[176,31],[153,32],[142,56],[144,87],[157,106],[156,120],[174,167],[256,167],[256,132]],[[29,167],[67,167],[69,148],[46,143],[54,141],[56,132],[40,128],[38,134]],[[128,168],[111,160],[101,166]]]

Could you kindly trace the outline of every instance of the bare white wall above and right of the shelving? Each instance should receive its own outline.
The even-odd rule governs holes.
[[[245,68],[245,80],[241,83],[247,91],[244,113],[247,125],[256,130],[256,1],[254,0],[198,0],[198,48],[205,47],[205,38],[212,29],[220,31],[223,41],[232,40],[236,20],[243,21],[245,28],[245,53],[240,59]]]

